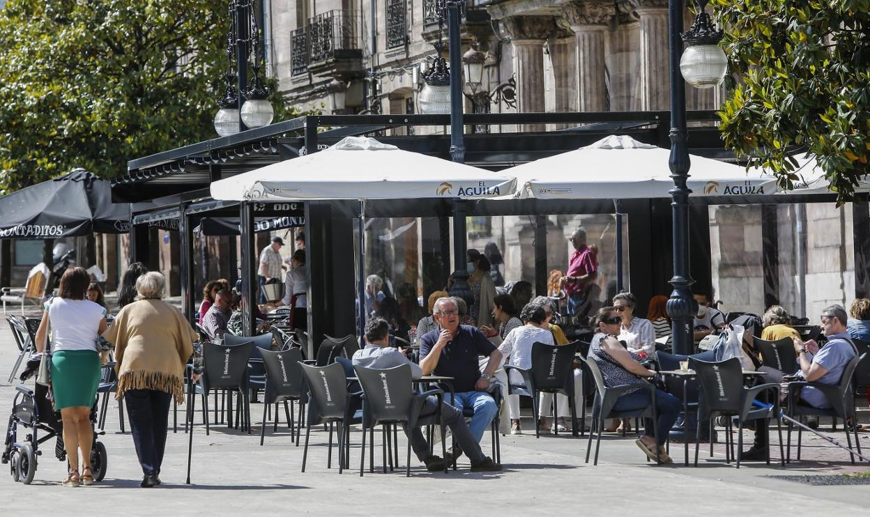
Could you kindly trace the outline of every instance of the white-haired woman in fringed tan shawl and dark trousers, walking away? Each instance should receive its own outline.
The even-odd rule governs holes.
[[[116,396],[127,403],[144,488],[160,484],[169,406],[173,396],[184,403],[184,365],[199,337],[180,310],[161,300],[165,288],[164,275],[139,276],[136,302],[103,335],[115,344]]]

